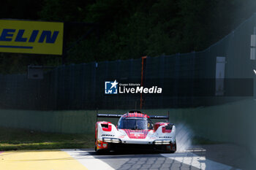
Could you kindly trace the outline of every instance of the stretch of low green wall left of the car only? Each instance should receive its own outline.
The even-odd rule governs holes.
[[[92,111],[0,110],[1,126],[35,131],[91,134],[95,120]]]

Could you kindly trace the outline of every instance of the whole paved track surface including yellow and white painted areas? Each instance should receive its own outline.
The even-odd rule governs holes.
[[[97,155],[92,149],[0,152],[0,170],[87,169],[254,169],[246,151],[232,144],[195,146],[174,154],[110,152]]]

